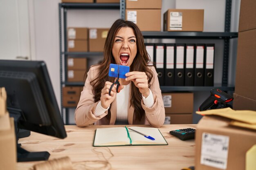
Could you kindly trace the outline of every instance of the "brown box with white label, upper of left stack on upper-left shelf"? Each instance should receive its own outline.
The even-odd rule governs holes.
[[[67,39],[87,40],[88,28],[78,28],[78,27],[67,28]]]

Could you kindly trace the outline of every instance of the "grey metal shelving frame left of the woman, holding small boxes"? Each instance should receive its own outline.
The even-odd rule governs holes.
[[[61,89],[65,86],[83,86],[83,82],[66,82],[67,80],[67,57],[103,57],[103,53],[100,52],[68,52],[67,51],[67,11],[76,10],[76,9],[104,9],[104,10],[120,10],[120,4],[97,4],[97,3],[59,3],[58,12],[59,12],[59,33],[60,33],[60,85]],[[62,18],[63,17],[63,18]],[[64,40],[64,41],[63,41]],[[64,43],[63,43],[64,42]],[[63,43],[63,45],[62,45]],[[63,64],[64,63],[64,64]],[[63,69],[65,75],[63,76]],[[65,81],[63,80],[65,77]],[[63,110],[65,109],[65,122],[69,123],[69,108],[64,108],[62,105],[62,90],[61,90],[61,117],[63,117]]]

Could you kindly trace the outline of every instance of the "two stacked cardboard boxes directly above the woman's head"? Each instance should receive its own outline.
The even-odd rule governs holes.
[[[126,20],[140,31],[161,31],[162,0],[126,0]]]

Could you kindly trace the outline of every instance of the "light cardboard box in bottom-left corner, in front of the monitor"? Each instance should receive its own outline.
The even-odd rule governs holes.
[[[9,114],[0,117],[0,124],[9,121],[9,129],[0,129],[0,169],[16,170],[17,166],[17,147],[14,129],[14,119],[9,118]]]

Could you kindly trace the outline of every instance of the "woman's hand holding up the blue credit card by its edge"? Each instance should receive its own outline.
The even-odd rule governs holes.
[[[140,71],[132,71],[126,73],[126,81],[132,81],[137,88],[139,88],[139,92],[144,96],[148,97],[149,88],[148,88],[148,76],[145,72]]]

